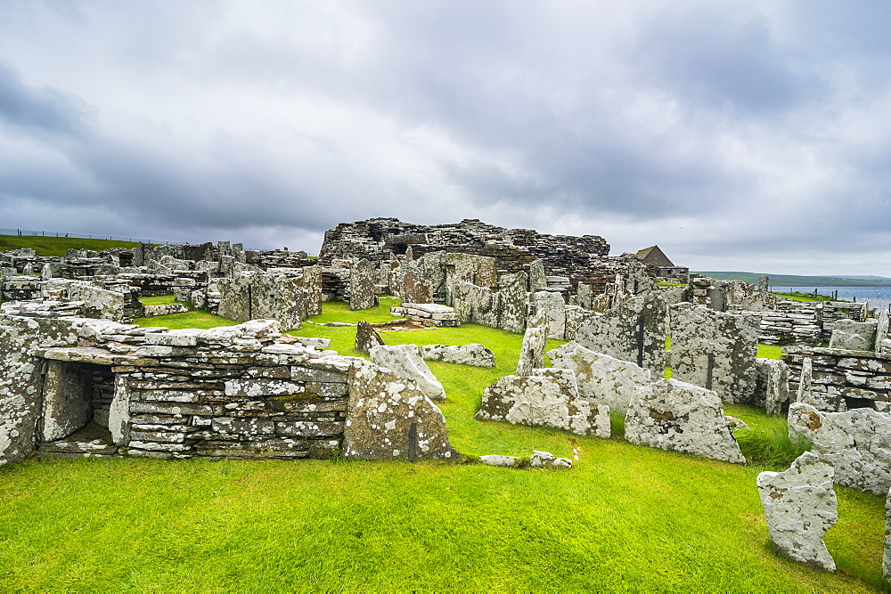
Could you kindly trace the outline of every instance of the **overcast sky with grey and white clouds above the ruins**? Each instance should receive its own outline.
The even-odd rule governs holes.
[[[891,3],[3,0],[0,227],[478,218],[891,276]]]

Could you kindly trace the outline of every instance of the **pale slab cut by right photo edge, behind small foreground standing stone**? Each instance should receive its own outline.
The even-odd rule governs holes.
[[[837,484],[883,496],[891,489],[891,414],[872,409],[822,412],[794,403],[789,407],[789,438],[798,436],[835,468]]]

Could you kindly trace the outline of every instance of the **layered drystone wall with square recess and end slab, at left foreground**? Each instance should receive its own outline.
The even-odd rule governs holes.
[[[413,380],[279,330],[4,315],[0,464],[36,451],[454,459],[441,411]]]

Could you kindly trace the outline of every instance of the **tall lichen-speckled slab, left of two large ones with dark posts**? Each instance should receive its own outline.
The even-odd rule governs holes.
[[[584,318],[576,330],[576,342],[594,353],[609,354],[623,361],[638,362],[661,378],[666,366],[667,308],[658,294],[634,297],[606,313]],[[642,343],[639,333],[643,321]]]

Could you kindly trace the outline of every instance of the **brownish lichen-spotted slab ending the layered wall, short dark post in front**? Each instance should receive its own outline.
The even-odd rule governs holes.
[[[347,460],[388,460],[409,456],[416,423],[419,459],[454,460],[446,417],[413,381],[370,362],[350,370],[343,456]]]

